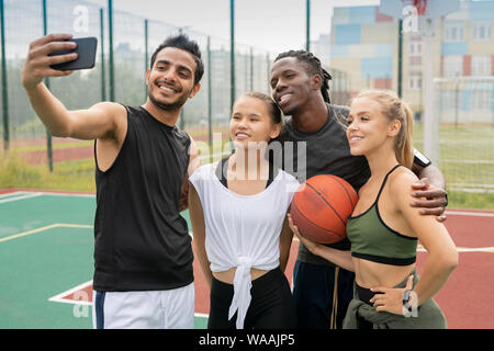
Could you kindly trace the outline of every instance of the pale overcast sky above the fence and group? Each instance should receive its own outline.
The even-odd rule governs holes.
[[[87,0],[105,7],[108,0]],[[236,0],[239,44],[281,53],[305,47],[305,0]],[[330,32],[333,7],[379,4],[380,0],[311,0],[311,39]],[[229,0],[113,0],[115,10],[229,38]]]

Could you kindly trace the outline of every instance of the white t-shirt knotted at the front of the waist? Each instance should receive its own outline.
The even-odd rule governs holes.
[[[250,305],[250,269],[280,265],[280,233],[293,194],[300,184],[280,170],[272,183],[255,195],[226,189],[213,165],[200,167],[190,178],[204,212],[205,249],[212,272],[236,268],[228,318],[237,312],[236,327],[244,328]]]

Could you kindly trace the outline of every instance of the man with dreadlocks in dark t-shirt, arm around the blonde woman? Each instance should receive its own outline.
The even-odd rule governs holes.
[[[284,155],[274,160],[284,160],[283,169],[300,182],[317,174],[335,174],[358,191],[370,177],[369,165],[364,157],[350,154],[341,127],[349,109],[330,104],[330,79],[319,59],[305,50],[290,50],[276,58],[270,81],[272,98],[290,117],[279,137],[284,144]],[[288,155],[289,150],[293,150],[293,157]],[[417,201],[412,205],[422,207],[422,214],[435,215],[442,222],[446,219],[446,184],[439,169],[429,165],[427,159],[415,157],[414,171],[420,181],[413,185]],[[350,249],[348,239],[328,246]],[[353,280],[352,272],[312,254],[300,244],[293,272],[299,327],[341,328],[352,298]]]

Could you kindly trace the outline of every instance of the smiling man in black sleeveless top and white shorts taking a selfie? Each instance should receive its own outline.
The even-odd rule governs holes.
[[[22,84],[54,136],[94,139],[93,325],[96,328],[193,328],[191,238],[180,206],[199,166],[195,144],[176,127],[200,89],[201,52],[186,35],[168,37],[146,75],[141,106],[100,102],[69,111],[43,83],[72,71],[52,65],[77,59],[70,34],[30,45]]]

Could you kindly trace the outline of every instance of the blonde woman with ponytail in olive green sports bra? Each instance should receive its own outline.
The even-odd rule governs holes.
[[[347,223],[351,253],[311,242],[290,225],[313,253],[355,271],[344,328],[446,328],[433,296],[457,267],[458,252],[441,223],[409,206],[417,180],[412,111],[395,93],[370,90],[352,100],[347,122],[351,155],[364,156],[371,170]],[[418,240],[428,251],[420,280]]]

